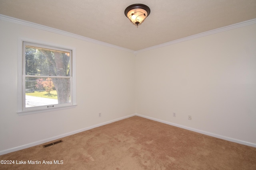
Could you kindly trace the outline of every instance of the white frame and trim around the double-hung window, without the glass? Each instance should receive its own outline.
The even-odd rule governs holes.
[[[42,42],[31,39],[20,39],[18,41],[18,115],[28,115],[34,113],[42,113],[46,111],[55,111],[60,109],[68,109],[76,106],[76,49],[72,47],[66,47],[63,45],[56,45],[48,42]],[[26,58],[24,55],[24,47],[23,44],[29,45],[40,45],[46,47],[48,49],[66,49],[72,53],[70,57],[70,103],[68,104],[57,104],[54,107],[46,107],[46,106],[36,106],[36,107],[26,107],[25,106],[25,62]],[[37,76],[44,77],[44,76]]]

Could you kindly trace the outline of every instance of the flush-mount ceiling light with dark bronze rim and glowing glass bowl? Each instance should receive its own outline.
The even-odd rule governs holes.
[[[137,27],[149,14],[150,8],[144,4],[132,4],[124,10],[124,15]]]

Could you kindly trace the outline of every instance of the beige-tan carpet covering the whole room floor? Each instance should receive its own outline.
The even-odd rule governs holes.
[[[0,164],[0,169],[256,170],[254,147],[138,116],[62,140],[46,148],[38,145],[1,155],[0,160],[15,164]],[[54,164],[57,160],[59,164]],[[41,164],[28,164],[32,161]]]

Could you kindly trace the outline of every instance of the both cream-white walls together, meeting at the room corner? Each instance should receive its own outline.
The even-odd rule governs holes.
[[[255,24],[136,56],[3,20],[0,30],[0,154],[134,113],[256,146]],[[16,113],[20,38],[76,48],[78,106]]]

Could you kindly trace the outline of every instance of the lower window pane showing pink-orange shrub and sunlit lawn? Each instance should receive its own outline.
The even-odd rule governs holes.
[[[70,103],[70,78],[26,77],[26,107]]]

